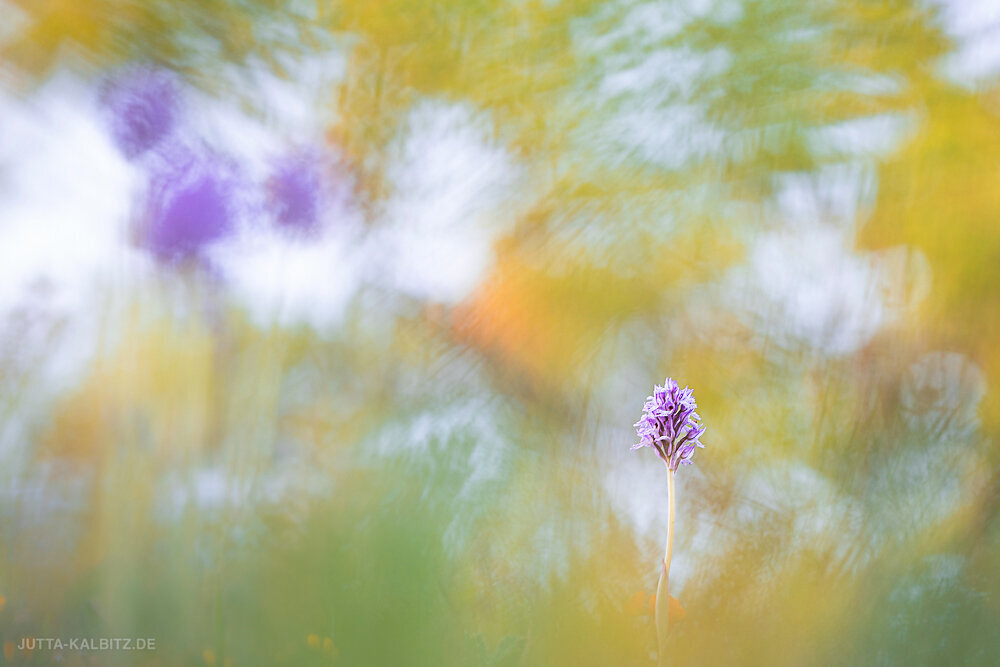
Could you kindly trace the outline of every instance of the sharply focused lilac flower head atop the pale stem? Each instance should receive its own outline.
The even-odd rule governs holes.
[[[674,472],[682,463],[690,465],[694,450],[705,446],[699,440],[705,427],[698,423],[697,408],[694,392],[681,389],[672,378],[662,387],[654,386],[642,408],[642,419],[635,423],[639,442],[632,449],[652,447]]]

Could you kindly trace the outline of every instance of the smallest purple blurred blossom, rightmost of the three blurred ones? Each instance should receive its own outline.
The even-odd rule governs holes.
[[[307,233],[316,231],[321,180],[319,160],[310,156],[293,156],[276,165],[267,189],[281,227]]]

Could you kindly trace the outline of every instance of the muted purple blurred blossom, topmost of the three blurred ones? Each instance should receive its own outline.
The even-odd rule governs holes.
[[[150,66],[126,70],[105,88],[111,136],[128,159],[156,146],[174,128],[178,94],[173,73]]]

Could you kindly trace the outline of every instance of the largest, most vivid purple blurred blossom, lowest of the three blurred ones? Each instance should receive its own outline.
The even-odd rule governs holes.
[[[232,231],[234,194],[228,165],[184,152],[152,178],[144,246],[162,262],[199,257]]]

